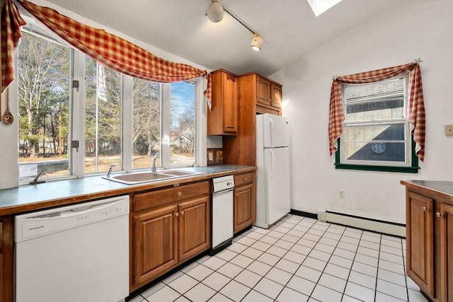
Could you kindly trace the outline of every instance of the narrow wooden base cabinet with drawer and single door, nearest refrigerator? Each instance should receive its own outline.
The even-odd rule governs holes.
[[[255,222],[255,173],[234,175],[234,185],[233,233],[238,233]]]

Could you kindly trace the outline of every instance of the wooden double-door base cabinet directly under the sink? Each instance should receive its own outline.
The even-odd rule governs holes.
[[[131,291],[210,248],[208,181],[132,194]]]

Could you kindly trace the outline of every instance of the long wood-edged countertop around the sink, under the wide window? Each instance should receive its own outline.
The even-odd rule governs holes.
[[[151,190],[185,182],[207,180],[233,173],[245,173],[256,170],[256,167],[248,165],[210,165],[207,167],[178,168],[177,170],[190,170],[203,174],[138,185],[124,185],[120,182],[105,180],[102,176],[44,182],[37,185],[23,185],[13,189],[0,190],[0,216]]]

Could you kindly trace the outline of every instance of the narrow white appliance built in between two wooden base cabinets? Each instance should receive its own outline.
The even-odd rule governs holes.
[[[233,238],[233,175],[212,179],[211,255],[231,244]]]

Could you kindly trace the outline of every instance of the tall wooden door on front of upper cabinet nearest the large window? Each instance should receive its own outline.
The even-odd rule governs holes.
[[[224,74],[224,132],[238,131],[238,88],[236,76]]]

